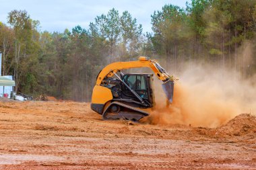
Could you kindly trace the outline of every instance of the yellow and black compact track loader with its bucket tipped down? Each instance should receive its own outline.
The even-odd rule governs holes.
[[[156,60],[140,56],[139,60],[113,62],[98,74],[92,91],[91,108],[104,120],[125,119],[134,122],[149,115],[153,108],[154,89],[152,74],[123,74],[124,69],[148,67],[163,84],[162,88],[172,103],[174,80]]]

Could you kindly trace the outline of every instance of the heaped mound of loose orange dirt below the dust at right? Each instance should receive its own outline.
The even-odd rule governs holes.
[[[240,114],[224,126],[217,128],[216,134],[228,136],[256,135],[256,117],[251,114]]]

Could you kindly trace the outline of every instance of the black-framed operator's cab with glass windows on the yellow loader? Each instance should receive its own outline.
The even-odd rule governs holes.
[[[147,101],[151,106],[154,102],[154,95],[153,95],[153,87],[152,87],[152,74],[126,74],[121,77],[123,81],[129,87],[135,91],[139,97],[143,100]],[[131,93],[131,91],[127,87],[123,87],[123,98],[130,99],[133,97],[134,100],[136,98]]]

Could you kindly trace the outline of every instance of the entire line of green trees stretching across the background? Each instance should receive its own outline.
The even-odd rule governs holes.
[[[256,72],[256,0],[192,0],[187,7],[164,5],[152,13],[152,32],[143,33],[129,11],[110,9],[88,29],[40,32],[27,11],[0,22],[2,73],[13,75],[15,91],[90,101],[98,72],[110,62],[150,56],[177,73],[184,63],[207,62]]]

